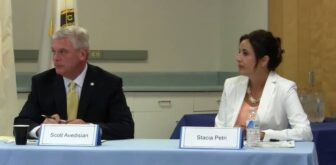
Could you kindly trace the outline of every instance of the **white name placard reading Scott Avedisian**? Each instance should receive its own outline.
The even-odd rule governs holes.
[[[100,145],[96,124],[42,124],[39,145],[97,146]]]

